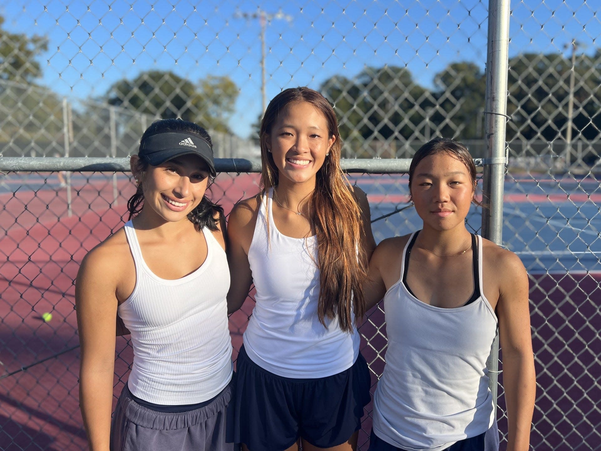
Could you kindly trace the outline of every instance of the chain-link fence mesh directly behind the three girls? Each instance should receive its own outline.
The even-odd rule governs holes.
[[[535,450],[601,449],[597,9],[511,4],[498,188],[503,244],[531,281]],[[11,2],[0,8],[0,155],[124,157],[154,118],[182,117],[210,129],[217,156],[252,159],[265,100],[308,85],[334,104],[349,158],[410,158],[435,136],[488,158],[488,10],[484,0]],[[85,252],[120,227],[132,185],[123,173],[12,169],[0,178],[0,447],[82,449],[72,281]],[[406,205],[404,176],[355,177],[374,219]],[[228,206],[256,181],[222,173],[215,198]],[[486,235],[478,210],[469,224]],[[380,241],[419,221],[407,209],[373,227]],[[230,320],[234,345],[249,313]],[[386,339],[381,312],[370,319],[362,348],[375,383]],[[117,389],[130,352],[120,342]],[[506,434],[502,396],[498,416]]]

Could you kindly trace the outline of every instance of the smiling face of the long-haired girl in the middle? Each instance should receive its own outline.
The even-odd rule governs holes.
[[[288,103],[267,136],[267,148],[284,178],[293,183],[315,182],[335,137],[329,136],[325,115],[308,102]]]

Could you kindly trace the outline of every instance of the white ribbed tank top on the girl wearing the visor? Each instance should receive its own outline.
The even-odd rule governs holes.
[[[162,405],[211,399],[231,379],[231,339],[225,296],[230,271],[209,229],[202,233],[207,258],[177,280],[158,277],[144,262],[132,221],[124,226],[136,266],[132,294],[117,308],[132,333],[129,390]]]

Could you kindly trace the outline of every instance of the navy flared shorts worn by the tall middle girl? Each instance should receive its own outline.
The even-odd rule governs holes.
[[[302,438],[337,446],[361,428],[370,402],[370,373],[361,354],[352,367],[325,378],[275,375],[240,349],[237,360],[234,441],[249,451],[282,451]]]

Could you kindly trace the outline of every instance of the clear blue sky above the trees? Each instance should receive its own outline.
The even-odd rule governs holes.
[[[11,0],[0,14],[10,31],[49,38],[41,84],[60,95],[102,97],[115,81],[150,69],[193,82],[228,75],[240,88],[230,125],[246,137],[261,111],[260,25],[237,13],[278,9],[272,2],[194,3],[90,0],[67,8],[59,0]],[[365,66],[406,66],[416,82],[432,88],[448,63],[469,60],[482,69],[486,63],[487,0],[281,4],[291,19],[267,24],[268,100],[285,87],[352,78]],[[511,9],[510,55],[564,51],[572,38],[585,52],[601,46],[592,0],[512,1]]]

